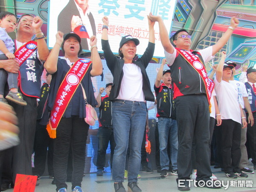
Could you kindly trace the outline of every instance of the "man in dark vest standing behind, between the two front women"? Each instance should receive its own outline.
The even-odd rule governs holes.
[[[113,154],[114,149],[116,147],[116,143],[114,140],[113,127],[112,127],[112,102],[108,100],[109,93],[111,91],[112,82],[106,84],[106,89],[101,87],[99,89],[99,95],[97,96],[97,102],[99,105],[99,131],[98,131],[98,139],[99,139],[99,148],[98,148],[98,156],[97,156],[97,176],[103,175],[103,170],[105,167],[106,161],[106,150],[108,148],[108,142],[110,142],[111,148],[111,157],[110,157],[110,166],[112,168]],[[101,97],[103,91],[107,93],[104,97]]]

